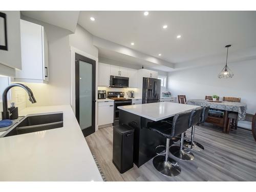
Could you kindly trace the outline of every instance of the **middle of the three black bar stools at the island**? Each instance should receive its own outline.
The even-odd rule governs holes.
[[[184,123],[187,123],[186,125],[183,124],[183,126],[177,127],[177,132],[179,132],[179,134],[181,134],[180,146],[171,146],[170,147],[170,153],[172,153],[175,157],[177,157],[181,160],[185,160],[185,161],[191,161],[194,159],[193,153],[191,153],[183,148],[184,132],[186,132],[187,129],[189,128],[189,119],[190,119],[191,113],[193,113],[193,111],[186,113],[188,115],[188,121],[185,118],[179,119],[180,121],[184,121]],[[177,123],[177,121],[174,118],[173,125],[175,126],[176,123]]]

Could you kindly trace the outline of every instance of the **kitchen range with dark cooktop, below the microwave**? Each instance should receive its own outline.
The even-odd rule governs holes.
[[[131,105],[132,99],[124,98],[124,92],[109,91],[107,93],[109,99],[114,100],[114,125],[118,124],[119,109],[118,106]]]

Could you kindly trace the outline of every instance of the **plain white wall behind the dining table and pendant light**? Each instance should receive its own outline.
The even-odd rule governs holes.
[[[247,113],[256,112],[256,60],[229,63],[234,76],[219,79],[222,65],[206,66],[168,73],[168,91],[187,99],[204,99],[205,95],[241,97],[247,103]]]

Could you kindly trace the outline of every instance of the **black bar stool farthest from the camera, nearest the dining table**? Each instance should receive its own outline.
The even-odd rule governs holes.
[[[188,147],[190,150],[194,151],[202,151],[204,150],[204,146],[200,143],[194,141],[195,137],[195,125],[199,124],[201,120],[204,119],[203,113],[205,111],[206,107],[204,106],[202,109],[199,110],[193,110],[191,112],[190,118],[189,118],[189,127],[191,127],[191,140],[185,140],[183,145]],[[209,111],[209,110],[208,110]],[[208,114],[208,112],[207,112]]]

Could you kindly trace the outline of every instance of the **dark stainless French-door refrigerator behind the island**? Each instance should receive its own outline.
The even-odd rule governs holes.
[[[142,103],[160,102],[161,80],[143,77]]]

